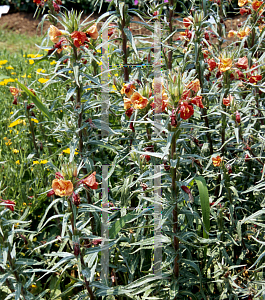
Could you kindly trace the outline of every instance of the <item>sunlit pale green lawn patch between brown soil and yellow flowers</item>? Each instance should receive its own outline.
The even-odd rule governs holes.
[[[29,36],[26,34],[16,33],[11,30],[5,29],[3,26],[0,27],[0,52],[4,50],[12,53],[36,53],[38,52],[37,45],[41,44],[42,37],[40,36]]]

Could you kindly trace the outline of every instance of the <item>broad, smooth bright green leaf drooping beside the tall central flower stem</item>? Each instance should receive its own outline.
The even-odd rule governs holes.
[[[201,208],[202,208],[202,219],[207,232],[210,231],[210,202],[209,193],[206,185],[206,181],[202,176],[195,178],[195,181],[199,188]],[[208,238],[209,234],[203,230],[203,237]]]

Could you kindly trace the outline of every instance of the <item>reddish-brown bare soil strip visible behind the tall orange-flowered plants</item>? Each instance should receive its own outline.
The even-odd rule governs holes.
[[[92,16],[90,19],[95,19],[97,16]],[[84,16],[85,18],[85,16]],[[2,15],[0,18],[0,28],[5,28],[8,30],[13,30],[16,33],[26,34],[30,36],[34,35],[41,35],[41,29],[38,28],[40,23],[41,17],[38,19],[33,19],[32,13],[25,13],[25,12],[16,12],[12,14],[5,14]],[[135,21],[140,21],[137,17],[134,17]],[[237,25],[245,20],[245,17],[236,16],[231,19],[226,20],[226,30],[237,30]],[[176,22],[178,23],[178,22]],[[44,22],[44,33],[49,28],[50,23],[49,21]],[[58,26],[60,28],[60,26]],[[37,30],[38,28],[38,30]],[[132,24],[131,31],[133,34],[150,34],[150,31],[146,30],[145,28],[141,28],[139,25]]]

